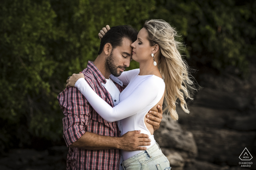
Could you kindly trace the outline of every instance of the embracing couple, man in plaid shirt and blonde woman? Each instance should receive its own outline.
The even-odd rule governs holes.
[[[176,35],[163,20],[146,21],[139,33],[128,25],[102,28],[97,58],[58,96],[68,170],[171,169],[153,133],[163,102],[174,120],[176,100],[189,112],[193,82]],[[131,60],[139,69],[124,71]]]

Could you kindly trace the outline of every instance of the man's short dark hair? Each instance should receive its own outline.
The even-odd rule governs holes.
[[[106,43],[110,43],[114,50],[116,47],[123,45],[123,38],[127,38],[134,42],[137,39],[137,35],[138,31],[129,25],[118,25],[111,27],[111,29],[101,39],[98,54],[102,53]]]

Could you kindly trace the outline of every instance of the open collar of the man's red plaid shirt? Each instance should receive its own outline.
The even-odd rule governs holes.
[[[92,70],[94,76],[96,77],[98,83],[104,83],[106,84],[106,78],[101,74],[99,69],[93,64],[93,62],[89,61],[87,64],[87,68]],[[123,86],[123,82],[118,79],[117,77],[110,75],[110,79],[119,84],[120,86]]]

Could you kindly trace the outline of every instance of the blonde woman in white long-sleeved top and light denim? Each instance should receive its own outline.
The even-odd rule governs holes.
[[[132,59],[139,62],[140,68],[125,71],[118,77],[128,86],[120,94],[120,103],[113,108],[90,88],[83,74],[73,75],[68,81],[67,85],[75,84],[103,119],[108,122],[121,120],[123,133],[141,130],[141,133],[150,135],[151,145],[146,151],[123,151],[126,170],[171,169],[154,140],[153,130],[147,129],[144,117],[148,110],[162,105],[164,98],[167,106],[164,111],[168,110],[172,119],[178,119],[177,99],[182,109],[189,112],[184,96],[190,98],[187,87],[193,82],[178,51],[181,44],[174,40],[176,34],[163,20],[145,22],[137,40],[131,44]]]

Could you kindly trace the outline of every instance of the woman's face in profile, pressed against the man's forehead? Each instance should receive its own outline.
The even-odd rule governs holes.
[[[131,47],[133,48],[132,59],[136,62],[152,60],[151,54],[154,50],[154,47],[150,46],[147,36],[147,30],[142,28],[138,33],[137,40],[131,44]]]

